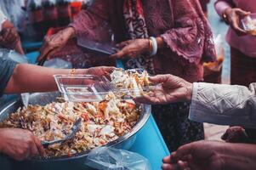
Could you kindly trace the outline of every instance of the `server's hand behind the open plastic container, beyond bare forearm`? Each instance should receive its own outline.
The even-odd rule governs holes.
[[[89,69],[86,69],[83,74],[86,75],[95,75],[98,77],[101,76],[109,76],[112,71],[117,69],[116,67],[111,67],[111,66],[99,66],[99,67],[92,67]]]

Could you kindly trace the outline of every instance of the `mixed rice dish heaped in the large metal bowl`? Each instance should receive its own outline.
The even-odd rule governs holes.
[[[74,139],[46,148],[47,156],[71,156],[107,144],[131,131],[139,119],[139,106],[133,100],[109,94],[94,103],[53,102],[45,106],[20,108],[1,123],[1,127],[28,129],[39,139],[64,139],[78,118],[82,125]]]

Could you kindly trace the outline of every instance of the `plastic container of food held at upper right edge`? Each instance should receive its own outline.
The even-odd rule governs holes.
[[[256,36],[256,13],[250,14],[242,19],[242,26],[249,34]]]

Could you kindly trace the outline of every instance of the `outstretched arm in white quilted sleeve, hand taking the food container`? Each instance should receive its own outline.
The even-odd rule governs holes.
[[[192,84],[173,75],[150,77],[150,81],[159,84],[150,95],[136,99],[141,103],[191,102],[191,121],[256,128],[256,83],[250,88],[204,82]]]

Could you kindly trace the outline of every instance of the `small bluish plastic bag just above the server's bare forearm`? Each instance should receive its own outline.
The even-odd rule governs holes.
[[[68,62],[59,58],[49,59],[45,61],[43,66],[54,68],[54,69],[71,69],[72,68],[71,62]]]

